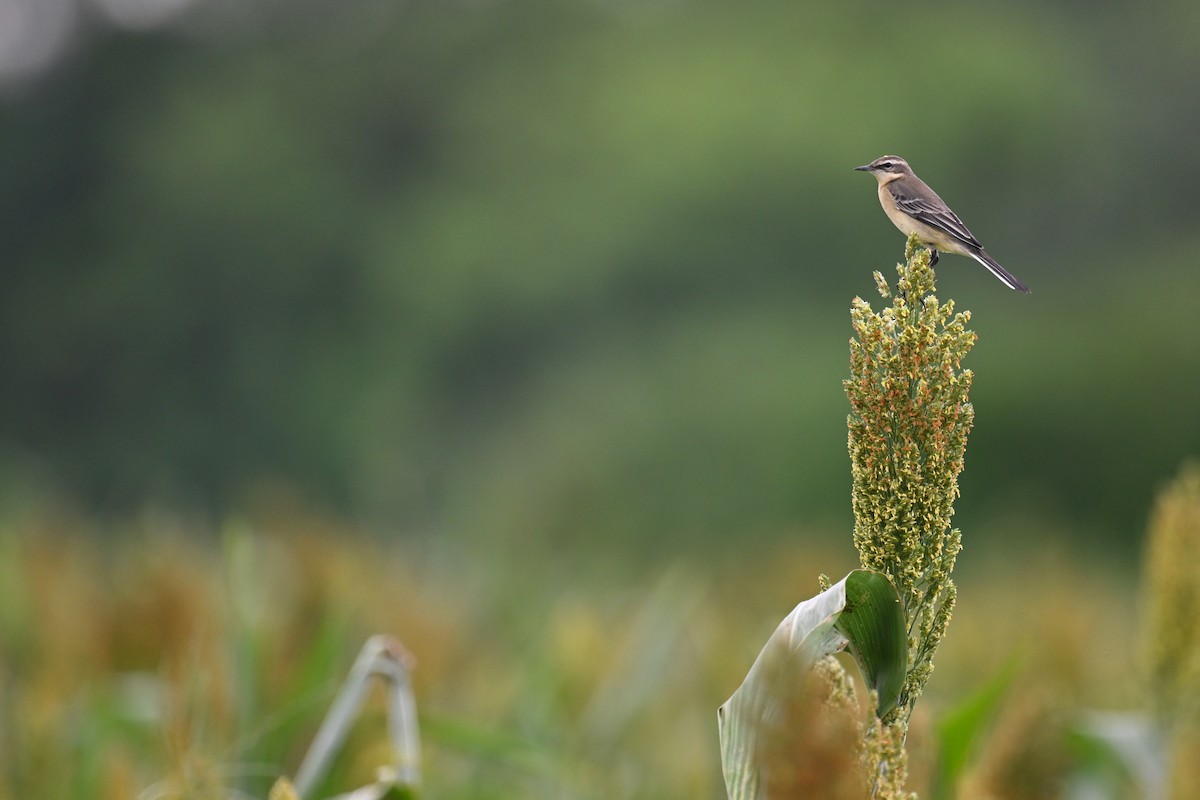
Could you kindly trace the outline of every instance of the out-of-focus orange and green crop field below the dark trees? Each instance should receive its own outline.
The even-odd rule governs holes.
[[[406,546],[294,505],[220,531],[152,516],[97,530],[61,512],[6,528],[5,799],[265,798],[377,632],[419,662],[427,796],[722,796],[716,706],[817,573],[856,566],[848,535],[796,531],[830,543],[630,572]],[[1132,573],[1019,545],[990,559],[965,541],[959,610],[910,742],[918,789],[936,718],[1014,663],[985,752],[1025,776],[1057,768],[1060,751],[1026,746],[1049,718],[1141,703]],[[380,699],[320,796],[388,760]]]

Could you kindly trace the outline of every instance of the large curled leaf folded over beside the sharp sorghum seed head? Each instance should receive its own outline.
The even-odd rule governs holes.
[[[772,633],[742,686],[716,712],[721,770],[731,800],[763,796],[758,734],[809,668],[848,650],[883,716],[900,698],[908,662],[900,597],[887,576],[854,570],[792,609]]]

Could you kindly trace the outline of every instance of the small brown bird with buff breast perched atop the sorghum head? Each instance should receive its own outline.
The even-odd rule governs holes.
[[[908,162],[900,156],[880,156],[869,164],[854,167],[870,173],[880,182],[880,205],[884,213],[905,236],[917,234],[930,249],[929,264],[937,264],[937,251],[967,255],[988,267],[1009,289],[1030,293],[1030,288],[1016,279],[1000,263],[984,251],[983,245],[950,211],[950,206],[917,178]]]

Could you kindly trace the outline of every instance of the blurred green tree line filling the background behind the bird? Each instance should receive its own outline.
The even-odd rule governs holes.
[[[980,335],[960,525],[1129,540],[1200,450],[1194,4],[238,5],[6,86],[10,500],[848,530],[884,152],[1033,288],[938,266]]]

